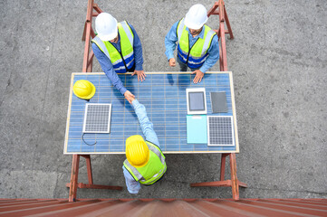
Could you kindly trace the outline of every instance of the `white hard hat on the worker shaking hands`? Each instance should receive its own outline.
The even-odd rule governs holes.
[[[117,20],[111,14],[102,12],[95,19],[95,31],[101,41],[111,41],[118,34]]]

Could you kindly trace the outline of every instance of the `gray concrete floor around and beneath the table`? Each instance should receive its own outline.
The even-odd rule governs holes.
[[[145,71],[170,69],[164,37],[197,1],[96,1],[128,20],[143,44]],[[214,1],[201,1],[209,9]],[[63,156],[71,73],[82,71],[84,1],[0,2],[0,197],[67,198],[72,156]],[[327,3],[226,0],[241,197],[327,198]],[[208,25],[216,28],[217,17]],[[101,71],[94,60],[93,71]],[[218,63],[211,71],[219,71]],[[91,156],[95,184],[124,185],[124,156]],[[220,155],[168,155],[165,180],[138,195],[79,189],[79,198],[228,198],[216,181]],[[228,164],[226,165],[228,168]],[[228,177],[227,173],[227,177]],[[82,159],[80,181],[87,182]]]

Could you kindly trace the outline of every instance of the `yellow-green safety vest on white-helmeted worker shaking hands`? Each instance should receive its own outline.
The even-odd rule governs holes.
[[[124,73],[134,65],[134,34],[130,29],[130,25],[127,24],[126,21],[118,24],[118,32],[120,33],[120,52],[117,51],[111,42],[101,41],[98,36],[96,36],[91,42],[95,42],[101,52],[111,60],[113,69],[117,73]]]

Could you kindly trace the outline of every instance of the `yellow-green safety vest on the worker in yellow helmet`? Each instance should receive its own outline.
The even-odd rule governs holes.
[[[149,147],[150,157],[147,165],[142,167],[134,167],[130,165],[130,162],[126,159],[124,161],[125,168],[130,172],[135,181],[140,184],[154,184],[162,175],[166,173],[167,165],[165,162],[165,156],[162,154],[160,148],[148,141],[146,144]]]

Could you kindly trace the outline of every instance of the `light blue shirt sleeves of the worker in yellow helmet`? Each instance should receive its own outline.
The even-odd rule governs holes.
[[[153,143],[154,145],[160,147],[159,139],[157,137],[156,132],[153,129],[153,124],[149,121],[145,107],[139,103],[138,99],[134,99],[132,101],[132,105],[136,115],[139,118],[139,125],[140,128],[142,129],[145,139],[150,143]],[[140,189],[139,182],[135,181],[135,179],[133,178],[133,176],[130,175],[130,172],[125,168],[125,166],[122,166],[122,169],[125,176],[127,190],[130,193],[139,193],[139,189]]]

